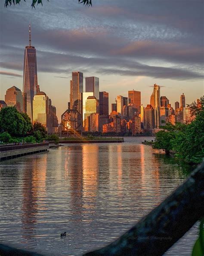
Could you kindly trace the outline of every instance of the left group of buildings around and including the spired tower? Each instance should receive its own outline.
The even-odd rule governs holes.
[[[5,101],[0,101],[0,109],[4,106],[15,106],[19,112],[25,112],[31,122],[40,122],[52,133],[58,131],[56,107],[44,92],[40,92],[37,83],[36,49],[31,45],[31,27],[29,26],[29,45],[24,51],[23,91],[16,86],[6,90]]]

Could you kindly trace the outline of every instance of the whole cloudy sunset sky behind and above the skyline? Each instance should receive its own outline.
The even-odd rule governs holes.
[[[174,107],[204,95],[203,1],[199,0],[31,0],[3,8],[0,1],[0,99],[15,85],[22,90],[24,48],[31,23],[37,49],[40,90],[57,115],[67,109],[71,71],[99,77],[109,103],[128,90],[141,91],[149,104],[153,84]],[[85,79],[84,79],[85,86]],[[60,122],[60,119],[59,119]]]

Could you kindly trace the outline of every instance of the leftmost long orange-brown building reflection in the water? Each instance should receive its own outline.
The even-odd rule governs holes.
[[[44,199],[46,196],[46,168],[47,154],[36,155],[24,166],[22,186],[22,237],[33,239],[36,235],[35,225],[37,214],[46,210]],[[39,222],[39,217],[38,217]]]

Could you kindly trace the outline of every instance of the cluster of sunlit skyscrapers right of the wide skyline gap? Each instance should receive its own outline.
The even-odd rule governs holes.
[[[72,72],[70,81],[70,102],[68,109],[62,114],[62,133],[73,131],[101,133],[155,132],[167,122],[187,123],[192,121],[190,109],[185,107],[185,95],[175,102],[175,109],[166,96],[160,96],[160,86],[154,84],[150,104],[141,104],[141,92],[128,91],[128,97],[118,95],[111,104],[107,92],[99,92],[99,78],[86,77],[85,92],[83,92],[83,73]]]

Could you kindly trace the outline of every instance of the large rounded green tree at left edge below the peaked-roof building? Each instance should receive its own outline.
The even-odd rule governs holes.
[[[1,131],[7,131],[12,136],[21,136],[26,130],[26,121],[15,107],[6,107],[0,111]]]

